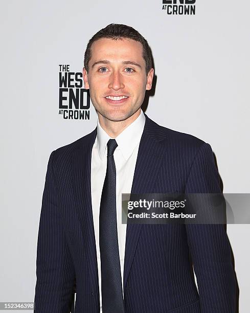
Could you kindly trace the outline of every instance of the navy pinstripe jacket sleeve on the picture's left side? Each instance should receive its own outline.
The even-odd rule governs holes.
[[[36,313],[69,313],[75,278],[74,264],[67,244],[50,155],[42,196],[37,260]]]

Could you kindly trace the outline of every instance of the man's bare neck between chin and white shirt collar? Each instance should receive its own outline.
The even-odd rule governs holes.
[[[110,121],[98,113],[98,119],[101,127],[106,131],[109,137],[115,139],[120,133],[135,121],[141,113],[139,108],[133,115],[123,121]]]

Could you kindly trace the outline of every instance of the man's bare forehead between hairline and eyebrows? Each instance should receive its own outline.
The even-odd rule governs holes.
[[[93,42],[91,47],[90,62],[94,63],[98,60],[126,61],[144,64],[143,46],[141,42],[133,39],[109,39],[101,38]]]

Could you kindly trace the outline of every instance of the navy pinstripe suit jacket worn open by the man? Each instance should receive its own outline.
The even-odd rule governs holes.
[[[37,313],[70,312],[75,280],[75,312],[100,311],[90,191],[96,135],[95,129],[50,155],[37,244]],[[170,192],[220,192],[212,149],[146,116],[131,193]],[[223,226],[127,225],[124,304],[126,313],[235,312],[235,276]]]

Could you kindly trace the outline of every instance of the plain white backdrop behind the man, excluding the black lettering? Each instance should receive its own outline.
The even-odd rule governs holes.
[[[146,114],[210,143],[225,193],[250,192],[250,3],[195,5],[195,15],[168,15],[162,0],[2,2],[0,302],[34,301],[49,155],[96,126],[92,106],[89,121],[58,115],[58,65],[81,72],[87,41],[110,23],[134,27],[152,49],[157,83]],[[228,235],[246,313],[250,226],[229,225]]]

